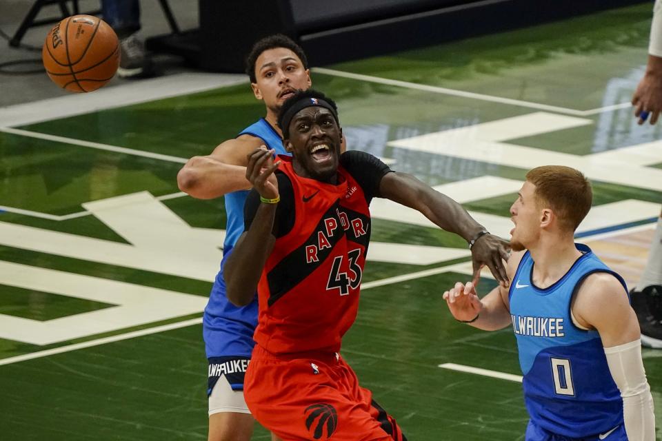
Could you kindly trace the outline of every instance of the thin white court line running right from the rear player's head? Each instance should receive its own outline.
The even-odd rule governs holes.
[[[342,78],[349,78],[359,81],[368,81],[369,83],[394,85],[400,88],[423,90],[424,92],[434,92],[437,94],[445,94],[452,96],[461,96],[462,98],[478,99],[481,101],[490,101],[492,103],[516,105],[519,107],[528,107],[530,109],[549,110],[551,112],[563,113],[574,116],[590,116],[601,112],[610,112],[612,110],[619,110],[625,107],[632,107],[631,103],[620,103],[620,104],[608,105],[605,107],[597,107],[595,109],[590,109],[590,110],[576,110],[576,109],[569,109],[568,107],[559,107],[556,105],[533,103],[532,101],[522,101],[519,99],[503,98],[502,96],[485,95],[476,92],[466,92],[465,90],[441,88],[439,86],[434,86],[434,85],[410,83],[409,81],[381,78],[379,76],[354,74],[352,72],[343,72],[341,70],[335,70],[335,69],[312,68],[312,71],[319,74],[340,76]]]

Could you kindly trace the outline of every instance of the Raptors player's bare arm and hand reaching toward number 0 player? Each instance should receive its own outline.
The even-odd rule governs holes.
[[[486,265],[500,285],[508,286],[504,265],[504,260],[508,260],[508,242],[485,234],[485,228],[462,205],[405,173],[385,174],[379,184],[379,192],[384,198],[417,209],[439,227],[459,234],[472,244],[474,283],[477,283],[481,267]]]

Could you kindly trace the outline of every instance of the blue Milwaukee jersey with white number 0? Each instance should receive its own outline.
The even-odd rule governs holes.
[[[510,314],[524,375],[526,408],[532,422],[568,438],[605,433],[623,424],[623,400],[611,376],[597,331],[572,323],[570,302],[594,272],[611,271],[589,247],[554,285],[534,286],[534,262],[526,252],[510,285]],[[596,305],[599,308],[600,305]]]

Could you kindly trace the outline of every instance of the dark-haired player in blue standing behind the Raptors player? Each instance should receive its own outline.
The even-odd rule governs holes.
[[[203,316],[208,358],[209,441],[249,441],[254,418],[243,399],[243,378],[254,346],[257,297],[235,307],[225,296],[223,266],[243,232],[243,205],[251,185],[245,177],[248,154],[257,148],[287,154],[277,127],[283,102],[311,85],[303,50],[288,37],[272,35],[255,43],[246,63],[255,98],[266,116],[221,143],[209,156],[194,156],[177,175],[179,188],[200,199],[225,195],[228,224],[223,260]],[[276,440],[277,438],[273,438]]]

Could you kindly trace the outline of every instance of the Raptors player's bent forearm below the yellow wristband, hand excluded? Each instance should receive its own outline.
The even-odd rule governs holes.
[[[228,300],[248,305],[257,291],[262,270],[276,238],[272,235],[276,204],[262,203],[247,232],[237,241],[225,263],[223,277]]]

